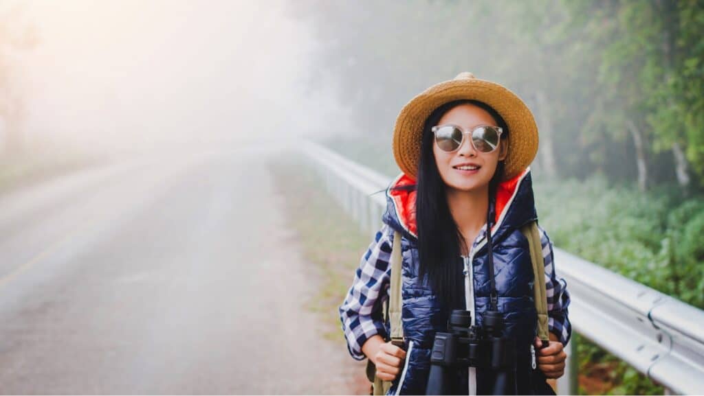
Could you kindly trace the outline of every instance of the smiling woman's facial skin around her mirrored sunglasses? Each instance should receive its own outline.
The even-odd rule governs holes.
[[[465,131],[471,131],[479,125],[493,125],[498,127],[494,117],[491,117],[486,110],[465,103],[451,108],[442,116],[438,125],[455,124]],[[491,153],[482,153],[474,150],[471,137],[465,134],[462,145],[456,151],[447,153],[442,151],[437,143],[433,143],[433,153],[435,163],[438,167],[440,177],[445,185],[450,189],[459,191],[472,191],[483,189],[489,185],[491,177],[494,176],[498,161],[504,160],[508,153],[507,140],[501,139],[498,148]],[[460,170],[458,167],[470,165],[479,167],[477,170]]]

